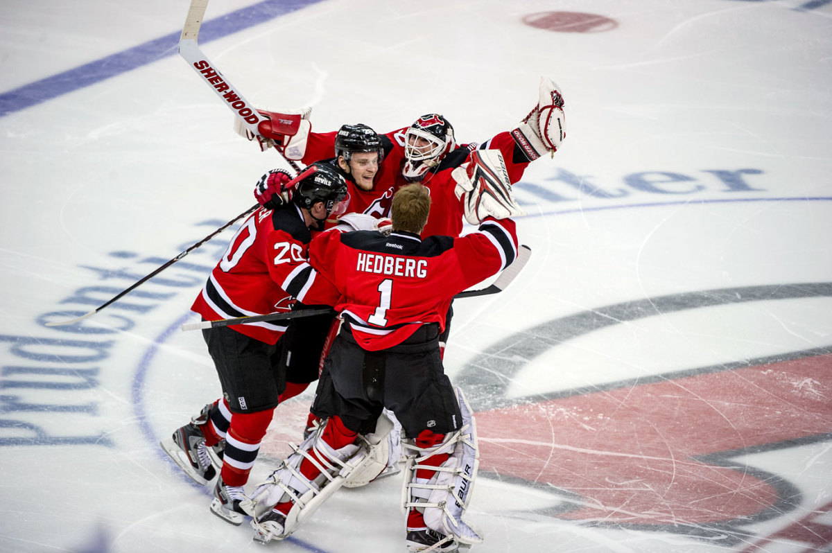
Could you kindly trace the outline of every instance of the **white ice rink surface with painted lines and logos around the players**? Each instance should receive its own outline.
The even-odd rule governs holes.
[[[532,259],[460,300],[476,551],[830,551],[832,2],[213,0],[201,45],[318,131],[567,140],[516,185]],[[158,447],[220,393],[188,309],[282,165],[176,56],[186,0],[0,3],[0,551],[262,551]],[[557,11],[557,12],[556,12]],[[532,26],[534,23],[537,27]],[[251,482],[297,442],[287,402]],[[281,551],[404,551],[397,477]]]

